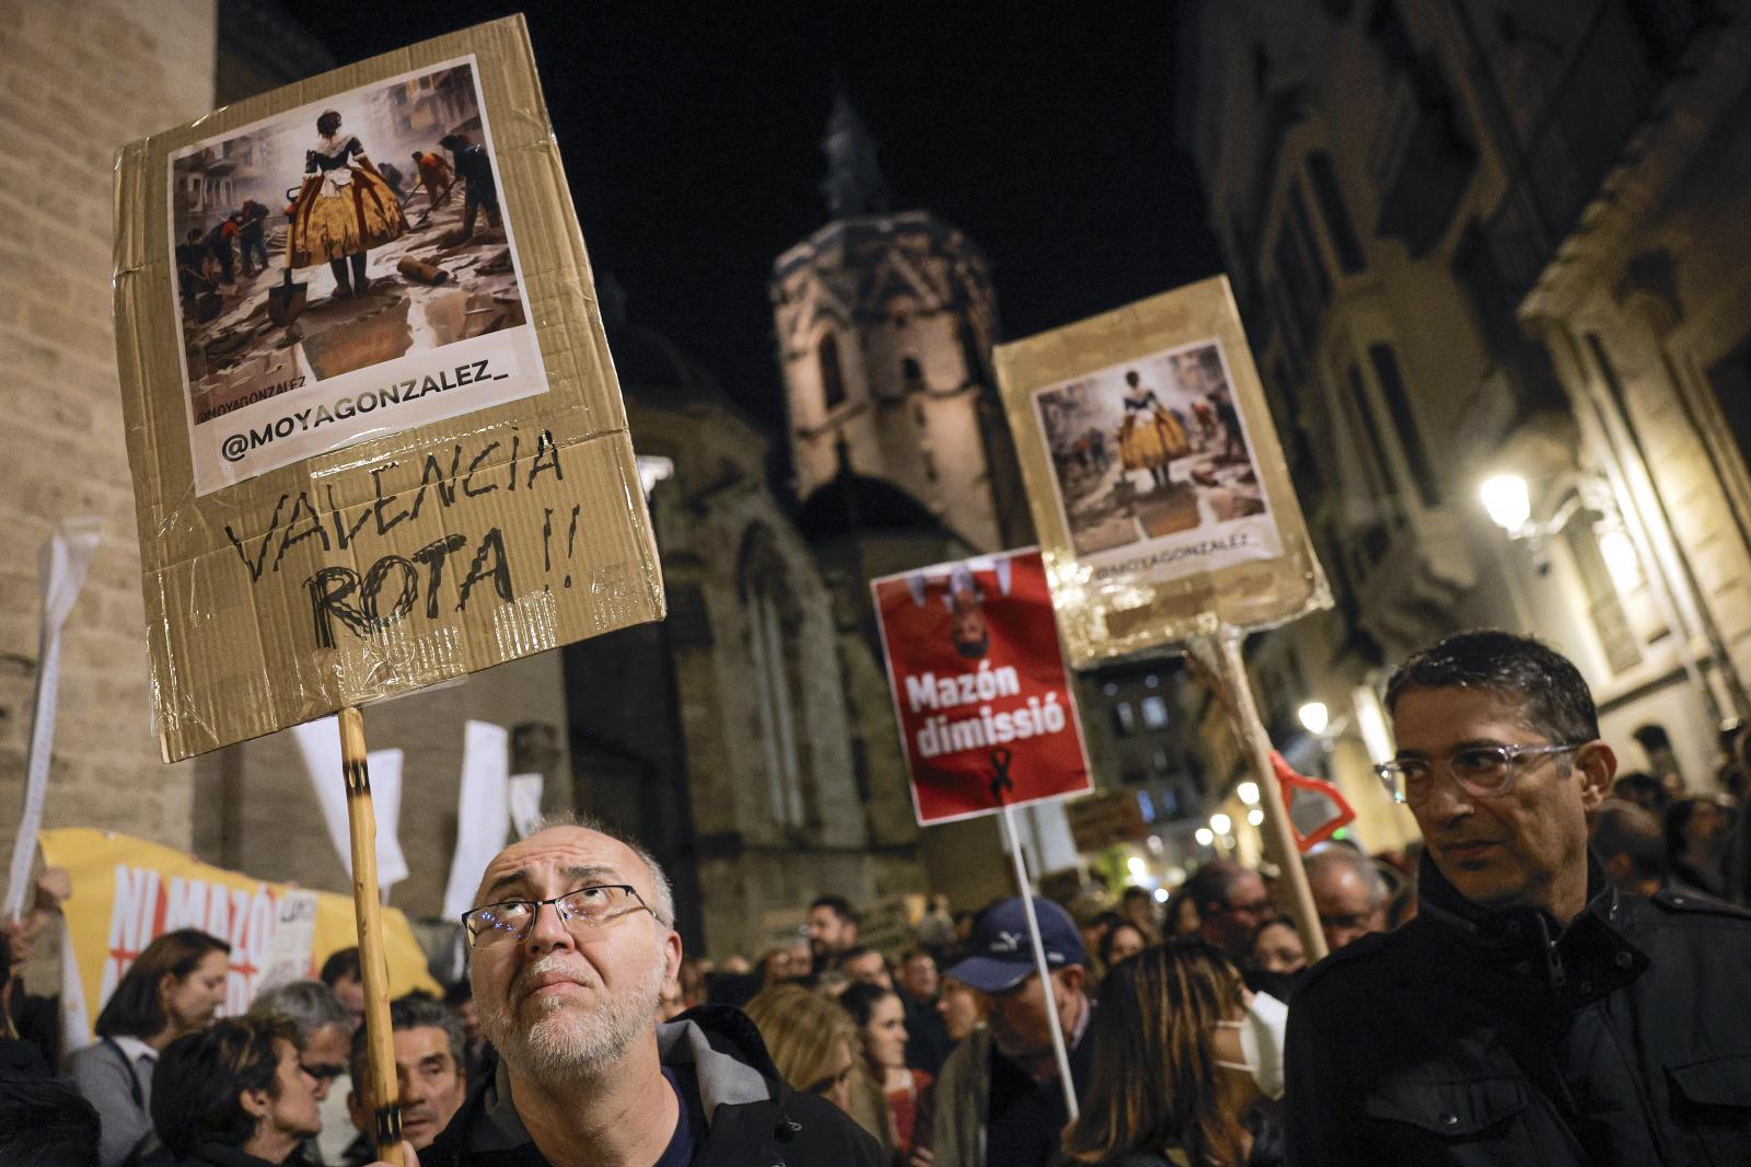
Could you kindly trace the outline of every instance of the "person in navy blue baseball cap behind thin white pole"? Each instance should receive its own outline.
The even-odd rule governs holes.
[[[1040,983],[1033,962],[1021,897],[986,908],[974,927],[972,955],[944,972],[984,994],[989,1016],[942,1064],[933,1167],[1047,1167],[1058,1156],[1070,1113],[1047,1009],[1058,1011],[1077,1097],[1087,1090],[1093,1043],[1082,1036],[1094,1002],[1086,992],[1082,934],[1070,913],[1049,899],[1035,897],[1033,911],[1049,985]]]

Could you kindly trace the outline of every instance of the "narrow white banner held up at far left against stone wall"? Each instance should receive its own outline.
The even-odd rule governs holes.
[[[42,576],[42,631],[37,638],[37,701],[30,722],[30,760],[25,778],[25,811],[12,839],[5,906],[0,920],[18,920],[30,887],[30,860],[37,855],[42,801],[49,794],[49,760],[54,753],[54,704],[61,685],[61,626],[67,624],[79,589],[86,584],[91,552],[96,550],[102,519],[67,519],[42,543],[37,569]]]

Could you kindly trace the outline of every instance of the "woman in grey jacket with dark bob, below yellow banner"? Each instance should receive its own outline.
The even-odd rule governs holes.
[[[224,1004],[231,946],[200,929],[165,932],[135,957],[98,1013],[98,1041],[67,1062],[103,1120],[100,1167],[138,1156],[152,1134],[152,1065]]]

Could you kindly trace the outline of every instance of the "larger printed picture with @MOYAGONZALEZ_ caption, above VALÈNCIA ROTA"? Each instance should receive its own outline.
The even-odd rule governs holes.
[[[546,391],[471,56],[170,163],[200,494]]]

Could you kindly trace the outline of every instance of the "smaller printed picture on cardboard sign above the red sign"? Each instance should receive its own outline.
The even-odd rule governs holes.
[[[1077,559],[1149,578],[1282,554],[1217,340],[1033,394]]]

